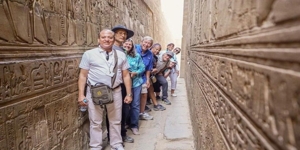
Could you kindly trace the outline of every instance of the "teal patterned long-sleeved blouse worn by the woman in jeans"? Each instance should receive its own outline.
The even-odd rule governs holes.
[[[132,88],[136,88],[143,84],[141,73],[145,72],[145,65],[139,53],[136,53],[136,57],[130,57],[129,55],[127,55],[127,61],[130,65],[129,71],[138,73],[138,75],[132,78]]]

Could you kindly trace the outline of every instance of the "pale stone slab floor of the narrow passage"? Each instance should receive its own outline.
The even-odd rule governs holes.
[[[169,89],[170,88],[169,81]],[[194,142],[189,108],[187,104],[187,92],[185,81],[178,78],[177,97],[171,97],[171,105],[162,104],[167,109],[154,111],[153,104],[148,105],[152,111],[148,112],[153,120],[140,120],[139,132],[141,135],[132,134],[128,129],[127,135],[134,138],[133,143],[125,142],[126,150],[193,150]],[[159,101],[161,103],[161,101]],[[103,149],[110,150],[107,145],[106,132],[103,133]]]

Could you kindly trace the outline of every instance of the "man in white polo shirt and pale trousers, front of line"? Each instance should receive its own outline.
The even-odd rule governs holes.
[[[124,99],[124,103],[131,103],[132,101],[131,82],[128,72],[128,68],[130,66],[127,62],[127,57],[123,52],[112,50],[114,41],[114,32],[109,29],[102,30],[98,37],[99,47],[86,51],[83,54],[79,65],[80,74],[78,79],[78,103],[81,106],[88,105],[91,150],[102,149],[101,123],[103,109],[100,107],[100,105],[93,104],[89,88],[87,89],[87,96],[84,96],[84,87],[87,83],[87,79],[91,85],[101,82],[111,86],[115,52],[118,55],[118,70],[113,88],[118,87],[120,83],[124,83],[126,91],[128,91],[127,96]],[[84,99],[88,100],[88,104],[83,102]],[[111,150],[124,150],[121,137],[122,94],[120,87],[113,90],[113,99],[113,103],[106,105],[110,126],[109,130],[111,133]]]

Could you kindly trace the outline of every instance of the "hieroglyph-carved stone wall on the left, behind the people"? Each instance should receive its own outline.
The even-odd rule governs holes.
[[[1,150],[87,149],[78,65],[99,31],[123,24],[137,44],[170,37],[159,0],[0,0],[0,16]]]

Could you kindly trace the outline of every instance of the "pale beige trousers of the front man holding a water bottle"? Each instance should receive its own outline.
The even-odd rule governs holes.
[[[90,146],[91,150],[102,149],[102,117],[103,108],[100,105],[94,105],[91,99],[90,89],[87,89],[88,98],[88,117],[90,120]],[[121,88],[113,91],[113,103],[106,105],[108,120],[110,145],[117,148],[122,145],[121,137],[121,119],[122,119],[122,93]]]

